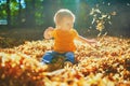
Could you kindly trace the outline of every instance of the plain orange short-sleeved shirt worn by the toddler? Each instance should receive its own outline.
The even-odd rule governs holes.
[[[76,51],[74,40],[76,37],[78,37],[78,33],[75,29],[70,29],[68,31],[62,29],[54,29],[52,34],[54,38],[55,52],[65,53]]]

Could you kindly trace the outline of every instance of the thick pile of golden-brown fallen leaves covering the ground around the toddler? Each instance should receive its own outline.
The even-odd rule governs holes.
[[[130,39],[96,40],[93,47],[76,41],[77,63],[62,69],[40,62],[53,40],[1,48],[0,86],[130,86]]]

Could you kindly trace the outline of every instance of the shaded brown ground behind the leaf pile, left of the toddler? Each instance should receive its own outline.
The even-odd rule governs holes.
[[[13,47],[25,41],[42,40],[43,29],[0,29],[0,47]]]

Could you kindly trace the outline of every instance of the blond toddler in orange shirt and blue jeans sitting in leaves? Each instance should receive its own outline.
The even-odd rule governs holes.
[[[74,29],[75,15],[66,9],[57,11],[54,15],[55,28],[49,27],[44,31],[44,39],[54,38],[53,51],[47,52],[42,57],[43,63],[50,63],[55,55],[65,57],[65,62],[75,63],[76,45],[74,40],[86,43],[95,43],[94,40],[88,40],[79,35]]]

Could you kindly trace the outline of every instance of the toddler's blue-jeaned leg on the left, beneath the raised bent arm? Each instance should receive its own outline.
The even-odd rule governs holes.
[[[54,54],[55,54],[55,52],[52,52],[52,51],[47,52],[42,57],[42,62],[50,63],[52,58],[54,57]]]

